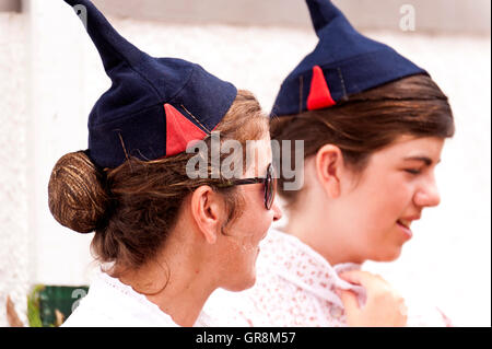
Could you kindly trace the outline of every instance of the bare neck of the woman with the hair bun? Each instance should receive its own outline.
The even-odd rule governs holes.
[[[200,256],[187,253],[197,249],[183,246],[183,242],[179,245],[169,242],[159,260],[126,272],[120,280],[145,294],[177,325],[188,327],[196,323],[216,286],[206,268],[200,267],[206,266],[206,263],[200,263]]]

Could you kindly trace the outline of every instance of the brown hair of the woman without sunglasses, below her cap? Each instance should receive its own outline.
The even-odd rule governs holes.
[[[350,96],[333,107],[274,118],[271,138],[303,140],[304,159],[315,155],[327,143],[340,148],[343,160],[355,173],[367,165],[371,154],[389,146],[399,136],[453,137],[453,113],[447,97],[424,74],[403,78]],[[291,151],[294,163],[294,151]],[[292,209],[302,190],[283,190],[285,178],[279,178],[279,194]]]

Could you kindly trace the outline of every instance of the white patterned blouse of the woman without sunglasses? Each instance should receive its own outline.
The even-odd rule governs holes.
[[[335,267],[285,233],[270,230],[257,260],[257,282],[243,292],[216,290],[206,303],[208,326],[347,326],[343,304],[335,288],[350,289],[365,302],[365,291],[338,276],[359,265]],[[450,325],[441,311],[409,303],[408,326]]]

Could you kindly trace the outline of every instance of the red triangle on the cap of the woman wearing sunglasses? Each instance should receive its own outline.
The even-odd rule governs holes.
[[[207,137],[206,132],[171,104],[164,104],[164,109],[166,112],[166,156],[184,152],[188,142]]]

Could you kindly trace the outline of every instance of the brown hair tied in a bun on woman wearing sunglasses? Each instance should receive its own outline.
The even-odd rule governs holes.
[[[235,139],[246,152],[246,140],[268,135],[268,118],[254,95],[239,90],[215,130],[221,141]],[[206,141],[210,149],[210,137]],[[184,152],[153,161],[128,158],[116,168],[97,171],[84,152],[66,154],[51,172],[49,209],[65,226],[81,233],[95,231],[91,247],[99,261],[137,269],[155,257],[185,197],[199,186],[210,185],[223,194],[229,210],[223,228],[237,218],[242,200],[234,187],[216,186],[222,178],[187,176],[186,164],[195,155]]]

